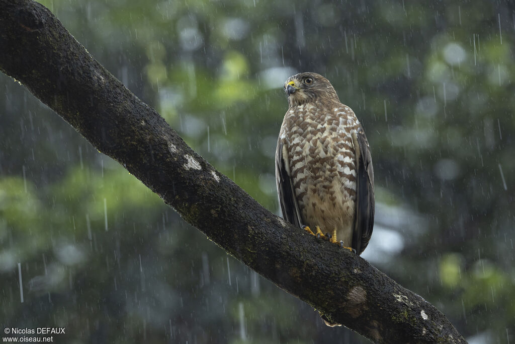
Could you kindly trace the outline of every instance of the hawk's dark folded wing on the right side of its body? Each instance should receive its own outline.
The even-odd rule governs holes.
[[[352,248],[358,254],[365,251],[374,226],[374,169],[370,146],[361,125],[352,134],[356,153],[356,212]]]

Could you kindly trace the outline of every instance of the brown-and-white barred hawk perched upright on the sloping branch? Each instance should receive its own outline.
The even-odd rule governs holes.
[[[284,89],[289,108],[276,151],[283,217],[361,254],[374,223],[374,173],[363,127],[320,74],[293,75]]]

